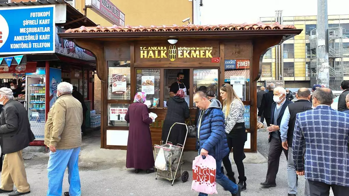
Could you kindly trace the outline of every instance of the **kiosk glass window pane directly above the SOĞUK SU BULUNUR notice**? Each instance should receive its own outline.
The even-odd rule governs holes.
[[[130,100],[130,61],[108,61],[108,99]]]

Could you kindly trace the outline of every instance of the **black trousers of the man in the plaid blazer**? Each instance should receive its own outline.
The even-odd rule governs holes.
[[[326,184],[324,182],[311,181],[309,182],[309,190],[311,196],[329,196],[329,189],[332,188],[334,196],[349,195],[349,187],[342,187],[335,184]]]

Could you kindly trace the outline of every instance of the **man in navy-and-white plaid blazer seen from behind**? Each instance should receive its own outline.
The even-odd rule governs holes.
[[[311,196],[349,195],[349,114],[331,108],[332,91],[313,93],[313,110],[298,113],[292,151],[296,173],[309,181]],[[305,169],[303,145],[305,143]]]

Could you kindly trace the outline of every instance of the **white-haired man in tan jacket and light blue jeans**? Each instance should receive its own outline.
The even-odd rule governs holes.
[[[50,148],[47,164],[49,188],[47,196],[62,195],[62,181],[68,167],[69,193],[80,196],[81,185],[78,156],[81,146],[82,106],[72,96],[73,85],[61,82],[57,85],[57,101],[47,114],[45,145]]]

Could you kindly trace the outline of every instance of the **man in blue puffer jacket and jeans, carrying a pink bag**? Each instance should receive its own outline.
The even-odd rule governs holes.
[[[209,100],[202,91],[195,93],[194,102],[201,110],[197,124],[197,149],[201,156],[209,154],[216,159],[216,182],[221,184],[225,190],[229,190],[232,195],[240,196],[241,187],[224,176],[220,169],[223,157],[229,153],[222,104],[217,99]],[[206,195],[199,194],[199,196]]]

